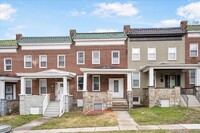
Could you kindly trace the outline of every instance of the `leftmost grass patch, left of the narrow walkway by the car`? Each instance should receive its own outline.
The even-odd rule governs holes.
[[[10,125],[12,128],[24,125],[42,115],[8,115],[0,117],[0,124]]]

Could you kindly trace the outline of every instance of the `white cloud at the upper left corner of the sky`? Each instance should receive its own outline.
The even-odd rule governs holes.
[[[16,13],[16,9],[14,9],[10,4],[0,4],[0,20],[12,20],[12,15]]]

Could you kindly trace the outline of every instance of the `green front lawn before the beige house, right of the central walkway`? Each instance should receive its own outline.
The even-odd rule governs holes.
[[[200,111],[185,107],[153,107],[129,110],[139,125],[200,124]]]

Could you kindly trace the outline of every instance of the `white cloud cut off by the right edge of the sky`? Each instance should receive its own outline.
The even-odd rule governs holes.
[[[177,14],[186,19],[200,20],[200,2],[193,2],[179,7]]]

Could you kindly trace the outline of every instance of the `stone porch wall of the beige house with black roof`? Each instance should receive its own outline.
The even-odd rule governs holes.
[[[178,106],[181,101],[180,87],[173,89],[148,89],[149,107],[156,106],[158,100],[169,100],[169,106]]]

